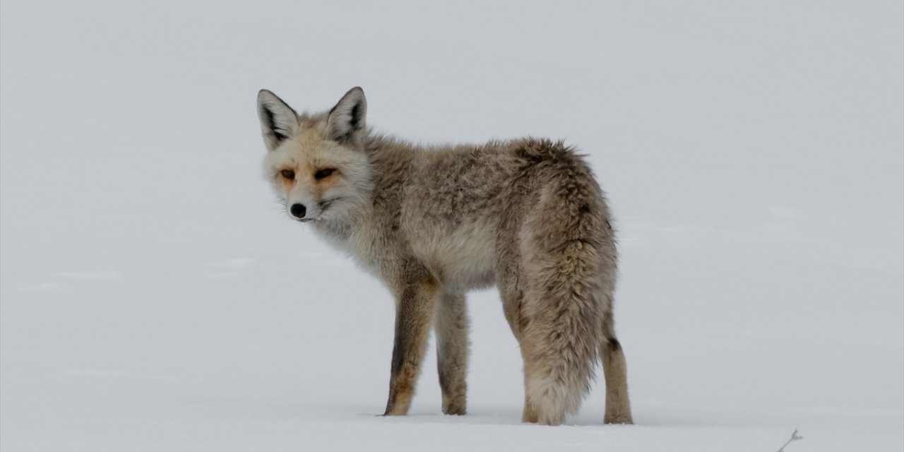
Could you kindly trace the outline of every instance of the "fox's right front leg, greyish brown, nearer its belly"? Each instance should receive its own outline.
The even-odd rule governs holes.
[[[467,306],[463,294],[443,293],[435,319],[443,413],[465,414],[467,394]]]

